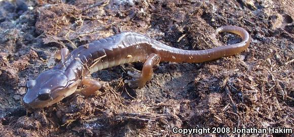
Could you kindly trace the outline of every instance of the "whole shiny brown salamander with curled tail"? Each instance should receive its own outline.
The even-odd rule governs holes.
[[[216,33],[231,32],[242,37],[236,44],[208,50],[189,51],[169,47],[157,40],[135,32],[122,32],[111,37],[81,45],[69,53],[66,48],[55,54],[60,64],[42,72],[35,80],[26,83],[23,97],[25,108],[38,109],[50,106],[76,92],[89,96],[101,88],[101,84],[90,77],[93,72],[132,62],[144,62],[141,73],[128,71],[132,79],[125,80],[131,88],[142,87],[152,78],[153,66],[159,62],[200,63],[241,53],[248,48],[250,35],[237,26],[223,26]]]

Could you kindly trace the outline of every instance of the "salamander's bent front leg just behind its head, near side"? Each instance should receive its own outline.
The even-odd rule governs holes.
[[[101,84],[97,80],[89,77],[82,78],[82,84],[87,86],[80,91],[84,96],[90,96],[101,88]]]

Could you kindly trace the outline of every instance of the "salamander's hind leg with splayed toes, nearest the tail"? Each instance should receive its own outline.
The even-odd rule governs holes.
[[[160,57],[157,54],[149,55],[143,65],[142,73],[128,71],[128,74],[133,78],[125,80],[125,83],[128,83],[131,88],[143,87],[152,78],[153,66],[159,64],[159,62]]]

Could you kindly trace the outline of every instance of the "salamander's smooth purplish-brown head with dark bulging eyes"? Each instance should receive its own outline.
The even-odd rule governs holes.
[[[71,95],[77,89],[77,82],[69,81],[59,70],[48,70],[35,80],[26,83],[28,88],[23,97],[27,109],[38,109],[50,106]]]

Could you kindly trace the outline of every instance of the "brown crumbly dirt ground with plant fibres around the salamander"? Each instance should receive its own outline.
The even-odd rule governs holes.
[[[0,136],[181,136],[172,128],[294,127],[294,2],[0,0]],[[131,89],[125,72],[141,63],[92,74],[97,94],[70,96],[27,112],[26,81],[58,63],[58,49],[133,31],[186,50],[233,44],[217,27],[245,28],[241,54],[205,63],[163,62],[150,82]],[[218,133],[199,136],[293,136]],[[193,136],[198,136],[194,134]]]

